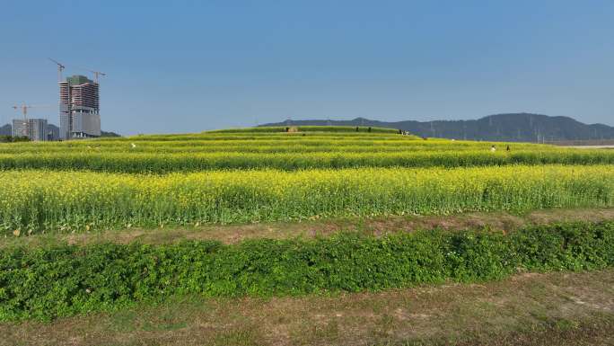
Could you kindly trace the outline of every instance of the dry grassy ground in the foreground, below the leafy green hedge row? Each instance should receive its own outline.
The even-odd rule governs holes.
[[[0,324],[0,345],[608,345],[614,270],[335,297],[206,299]]]

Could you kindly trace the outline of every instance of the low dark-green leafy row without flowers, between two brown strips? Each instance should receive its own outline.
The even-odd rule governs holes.
[[[614,223],[508,233],[422,231],[315,240],[13,247],[0,253],[0,320],[50,320],[171,296],[285,296],[503,279],[614,265]]]

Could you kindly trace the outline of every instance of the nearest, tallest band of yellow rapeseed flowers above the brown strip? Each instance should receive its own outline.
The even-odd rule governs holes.
[[[168,175],[0,171],[6,234],[477,210],[611,207],[610,165]]]

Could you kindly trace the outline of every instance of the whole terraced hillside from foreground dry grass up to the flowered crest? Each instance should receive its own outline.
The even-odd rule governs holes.
[[[0,182],[0,344],[612,341],[611,150],[228,129],[1,144]]]

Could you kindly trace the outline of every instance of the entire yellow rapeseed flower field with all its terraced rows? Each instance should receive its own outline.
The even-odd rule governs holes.
[[[0,145],[0,230],[524,212],[614,200],[614,151],[395,129],[285,130]]]

